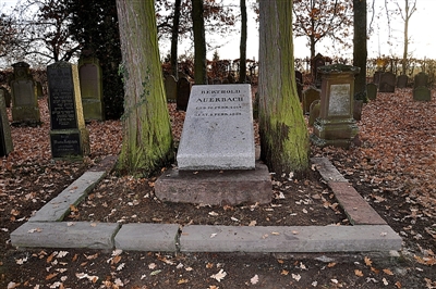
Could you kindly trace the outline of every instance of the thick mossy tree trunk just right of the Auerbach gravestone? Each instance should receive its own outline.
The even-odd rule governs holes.
[[[292,1],[259,1],[259,134],[270,172],[305,174],[308,134],[296,93]]]

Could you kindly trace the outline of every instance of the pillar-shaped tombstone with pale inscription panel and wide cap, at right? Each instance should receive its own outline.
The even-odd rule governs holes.
[[[318,68],[323,75],[319,117],[311,140],[318,147],[348,148],[359,133],[353,118],[354,75],[360,67],[335,64]]]

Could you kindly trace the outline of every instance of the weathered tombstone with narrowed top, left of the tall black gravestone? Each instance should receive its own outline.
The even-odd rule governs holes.
[[[12,64],[14,68],[12,90],[12,121],[14,124],[37,125],[40,114],[35,81],[25,62]]]

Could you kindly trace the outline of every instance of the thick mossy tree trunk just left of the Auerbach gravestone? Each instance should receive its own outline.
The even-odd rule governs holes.
[[[118,168],[149,175],[172,159],[154,1],[117,0],[117,10],[125,88]]]

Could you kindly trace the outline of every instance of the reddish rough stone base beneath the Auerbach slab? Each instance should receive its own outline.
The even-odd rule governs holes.
[[[162,201],[210,205],[269,203],[272,198],[268,167],[255,169],[179,171],[171,169],[155,183],[156,197]]]

